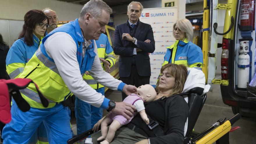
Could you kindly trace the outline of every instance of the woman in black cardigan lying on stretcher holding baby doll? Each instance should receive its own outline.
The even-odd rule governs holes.
[[[202,71],[193,68],[188,68],[188,70],[191,73],[200,73],[201,77],[203,75],[201,84],[204,86],[205,77]],[[141,116],[136,115],[128,125],[124,125],[116,131],[111,144],[136,142],[143,144],[182,144],[187,130],[186,123],[189,115],[189,106],[179,93],[191,88],[191,82],[186,82],[188,70],[183,65],[171,63],[161,68],[161,77],[157,83],[157,96],[153,102],[144,104],[150,121],[158,122],[159,126],[151,130]],[[184,87],[185,82],[188,86],[187,88]],[[94,131],[99,129],[102,120],[103,118],[95,124]],[[93,143],[99,143],[97,138],[100,136],[100,132],[92,134]]]

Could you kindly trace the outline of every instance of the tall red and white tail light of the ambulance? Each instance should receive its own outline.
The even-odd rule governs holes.
[[[229,41],[226,38],[222,39],[222,54],[221,54],[221,77],[228,79],[228,48]]]

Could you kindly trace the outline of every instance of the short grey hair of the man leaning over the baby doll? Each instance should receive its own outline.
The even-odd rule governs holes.
[[[112,14],[113,12],[112,8],[110,8],[104,1],[90,0],[83,6],[79,18],[84,19],[86,13],[90,13],[93,18],[97,18],[101,15],[102,10],[105,10],[109,14]]]

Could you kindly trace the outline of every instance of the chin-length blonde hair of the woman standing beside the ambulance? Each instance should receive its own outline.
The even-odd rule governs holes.
[[[173,36],[175,37],[174,29],[175,26],[179,28],[179,30],[186,33],[186,38],[188,41],[192,40],[193,38],[193,27],[191,22],[188,19],[179,19],[173,24]]]

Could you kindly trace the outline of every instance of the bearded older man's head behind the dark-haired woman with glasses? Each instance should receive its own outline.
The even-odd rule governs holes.
[[[56,15],[56,12],[54,10],[51,10],[50,8],[43,9],[43,12],[45,13],[45,15],[47,15],[50,24],[50,27],[46,29],[47,35],[57,27],[58,17]]]

